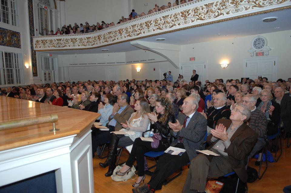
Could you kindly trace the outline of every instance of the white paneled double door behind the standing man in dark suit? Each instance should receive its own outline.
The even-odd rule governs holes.
[[[198,80],[202,83],[207,79],[207,61],[187,62],[180,64],[180,74],[183,75],[187,82],[190,82],[193,70],[196,70],[196,74],[199,75]]]

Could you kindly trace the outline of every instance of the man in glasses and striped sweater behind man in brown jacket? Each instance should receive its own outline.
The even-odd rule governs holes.
[[[258,141],[248,158],[253,157],[256,152],[260,151],[265,146],[264,136],[267,132],[267,119],[265,114],[256,108],[257,99],[253,94],[243,96],[243,105],[248,107],[251,111],[251,118],[249,119],[249,126],[258,134]],[[257,160],[260,161],[260,158]]]

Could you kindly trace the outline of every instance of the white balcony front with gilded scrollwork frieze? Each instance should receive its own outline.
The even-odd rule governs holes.
[[[196,0],[97,32],[34,37],[34,48],[90,49],[290,8],[291,0]]]

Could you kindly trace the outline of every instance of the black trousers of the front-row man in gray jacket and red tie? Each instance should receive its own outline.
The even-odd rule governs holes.
[[[182,143],[178,143],[175,147],[185,149]],[[163,182],[170,175],[172,175],[182,166],[187,165],[189,162],[190,160],[187,152],[183,153],[182,155],[171,155],[165,153],[159,158],[156,170],[148,184],[155,190],[162,189]]]

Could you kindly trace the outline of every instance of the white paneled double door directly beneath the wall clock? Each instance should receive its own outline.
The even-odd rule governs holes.
[[[277,80],[278,57],[246,58],[244,59],[244,77],[256,79],[258,76],[268,80]]]

